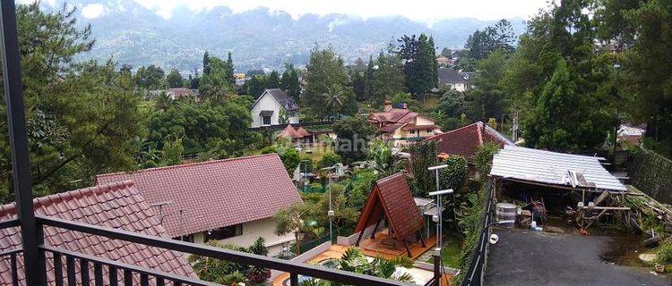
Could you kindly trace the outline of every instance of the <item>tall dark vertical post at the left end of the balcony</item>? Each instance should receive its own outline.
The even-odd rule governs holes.
[[[4,77],[4,98],[7,103],[7,125],[12,149],[13,188],[16,208],[21,219],[23,264],[27,285],[45,285],[43,273],[39,273],[44,260],[39,255],[42,238],[38,237],[38,225],[32,206],[30,186],[30,163],[28,157],[28,135],[23,106],[21,80],[21,58],[19,38],[16,30],[16,9],[13,0],[2,0],[2,59]]]

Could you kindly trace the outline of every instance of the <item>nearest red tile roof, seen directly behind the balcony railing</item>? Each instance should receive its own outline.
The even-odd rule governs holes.
[[[36,198],[33,204],[35,214],[168,237],[166,230],[159,223],[159,218],[138,193],[132,181],[113,182]],[[0,220],[14,217],[16,217],[14,204],[0,206]],[[197,278],[185,257],[175,251],[50,226],[45,227],[44,233],[45,243],[50,246]],[[0,251],[19,247],[21,247],[21,234],[18,227],[0,230]],[[17,262],[22,268],[22,259],[18,259]],[[47,259],[47,280],[52,285],[55,282],[53,269],[53,260]],[[107,267],[104,269],[107,272]],[[23,271],[20,269],[18,273],[19,279],[23,281],[25,279]],[[79,267],[77,273],[79,284]],[[105,277],[105,283],[109,284],[107,273]],[[0,259],[0,285],[10,285],[11,282],[9,259]]]

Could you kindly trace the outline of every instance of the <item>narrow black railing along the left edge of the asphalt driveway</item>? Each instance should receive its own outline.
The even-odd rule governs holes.
[[[492,221],[492,202],[493,202],[493,181],[487,181],[486,198],[484,200],[485,212],[482,217],[482,224],[477,231],[480,231],[478,242],[472,250],[471,263],[467,273],[461,282],[461,286],[480,286],[483,285],[483,273],[485,272],[487,243],[490,237],[490,226]]]

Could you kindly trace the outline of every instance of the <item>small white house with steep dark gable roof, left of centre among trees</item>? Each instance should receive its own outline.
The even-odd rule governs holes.
[[[252,127],[298,123],[297,103],[280,88],[264,90],[250,108],[250,114]],[[283,116],[286,116],[286,122],[280,121]]]

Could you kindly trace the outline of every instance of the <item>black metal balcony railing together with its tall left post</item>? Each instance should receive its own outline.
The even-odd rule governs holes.
[[[142,233],[68,221],[56,217],[36,216],[33,209],[30,181],[28,136],[21,78],[21,61],[16,29],[16,11],[13,0],[2,0],[0,30],[4,95],[7,106],[8,133],[12,151],[13,190],[16,198],[17,217],[0,222],[0,229],[21,228],[21,247],[0,252],[0,260],[9,259],[13,285],[39,286],[49,280],[62,285],[216,285],[191,277],[162,273],[137,265],[128,265],[107,258],[58,248],[45,244],[44,227],[89,233],[114,240],[125,240],[147,246],[165,248],[182,253],[212,257],[227,261],[270,268],[289,273],[291,285],[298,285],[298,275],[310,276],[343,284],[366,286],[403,285],[401,282],[349,273],[317,265],[298,264],[273,257],[213,248],[178,240],[169,240]],[[47,264],[47,261],[49,262]],[[47,265],[53,266],[47,268]],[[436,272],[438,273],[438,271]],[[47,275],[48,274],[48,275]],[[53,279],[51,279],[53,277]],[[433,282],[438,282],[434,279]]]

